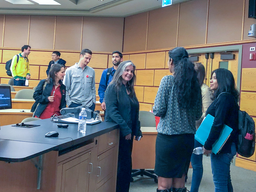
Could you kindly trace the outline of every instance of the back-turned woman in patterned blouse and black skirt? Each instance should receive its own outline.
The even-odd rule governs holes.
[[[160,117],[157,126],[155,173],[157,192],[185,192],[194,148],[196,120],[202,116],[202,95],[194,64],[183,47],[169,51],[173,75],[161,80],[153,107]]]

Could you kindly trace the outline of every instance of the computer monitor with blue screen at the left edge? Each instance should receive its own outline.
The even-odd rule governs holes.
[[[10,86],[0,86],[0,109],[12,108],[12,96]]]

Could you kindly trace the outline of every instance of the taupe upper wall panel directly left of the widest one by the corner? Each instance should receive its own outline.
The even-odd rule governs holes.
[[[81,29],[82,17],[57,16],[55,49],[80,50],[82,32]]]

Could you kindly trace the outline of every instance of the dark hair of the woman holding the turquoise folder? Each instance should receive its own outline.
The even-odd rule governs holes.
[[[215,98],[222,92],[228,92],[233,95],[236,102],[239,101],[239,92],[236,89],[236,83],[231,71],[225,68],[219,68],[212,71],[212,74],[216,74],[218,88],[214,91],[213,96]]]

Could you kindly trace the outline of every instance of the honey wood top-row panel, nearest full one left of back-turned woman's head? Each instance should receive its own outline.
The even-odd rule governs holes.
[[[146,69],[164,68],[165,52],[147,53],[146,58]]]

